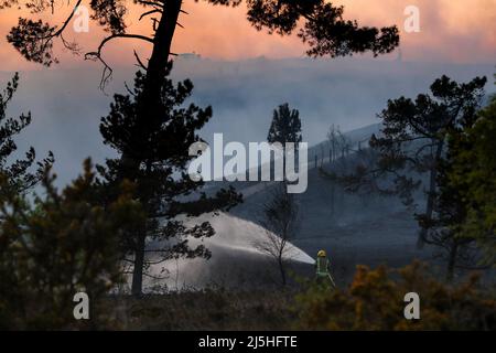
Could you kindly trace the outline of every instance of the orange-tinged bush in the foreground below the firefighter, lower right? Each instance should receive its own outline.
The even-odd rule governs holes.
[[[405,295],[420,296],[420,320],[403,315]],[[479,278],[448,285],[413,263],[399,270],[358,266],[346,289],[311,285],[296,296],[300,330],[496,330],[494,289]]]

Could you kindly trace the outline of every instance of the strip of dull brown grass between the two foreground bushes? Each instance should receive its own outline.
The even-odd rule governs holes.
[[[294,293],[202,291],[107,299],[122,330],[290,330]]]

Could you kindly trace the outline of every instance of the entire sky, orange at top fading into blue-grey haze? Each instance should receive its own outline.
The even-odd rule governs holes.
[[[58,0],[60,1],[60,0]],[[69,8],[63,0],[44,20],[61,23]],[[87,2],[88,0],[84,0]],[[126,0],[132,3],[132,0]],[[428,90],[440,75],[459,81],[492,75],[496,64],[496,0],[342,0],[345,15],[363,25],[397,24],[401,31],[398,51],[377,60],[304,60],[305,46],[293,36],[257,32],[246,20],[244,6],[231,9],[204,1],[184,0],[173,42],[173,52],[202,55],[202,60],[179,61],[175,78],[191,77],[193,100],[212,105],[214,118],[202,130],[225,133],[226,141],[260,141],[267,138],[272,109],[290,103],[301,113],[304,140],[325,139],[331,124],[344,130],[378,122],[376,114],[388,98],[412,97]],[[407,6],[420,9],[420,33],[405,33]],[[139,11],[138,11],[139,10]],[[65,11],[65,12],[64,12]],[[136,7],[127,18],[129,33],[150,33],[148,21],[138,21]],[[136,49],[147,56],[148,44],[119,40],[106,47],[105,60],[115,68],[108,96],[98,89],[101,66],[64,52],[56,43],[61,64],[50,69],[28,63],[6,41],[20,15],[15,9],[0,10],[0,88],[21,71],[21,85],[9,114],[31,110],[33,124],[20,136],[21,150],[34,146],[40,157],[53,150],[55,170],[62,181],[80,171],[84,158],[103,161],[111,151],[103,146],[98,125],[108,113],[111,94],[132,82]],[[82,52],[94,51],[106,33],[90,23],[88,33],[68,28],[66,40],[75,40]],[[268,60],[252,60],[265,56]],[[288,57],[292,57],[289,60]],[[208,60],[209,58],[209,60]],[[228,61],[228,62],[226,62]],[[492,79],[488,90],[494,92]]]

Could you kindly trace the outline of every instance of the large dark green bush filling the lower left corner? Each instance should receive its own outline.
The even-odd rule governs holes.
[[[0,190],[9,179],[0,175]],[[143,212],[129,183],[103,207],[89,160],[62,193],[54,179],[43,173],[43,193],[34,200],[12,189],[0,195],[0,329],[108,328],[99,299],[121,281],[119,239]],[[80,291],[89,296],[90,320],[73,315]]]

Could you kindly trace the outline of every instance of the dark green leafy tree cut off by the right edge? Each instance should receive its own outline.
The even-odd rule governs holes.
[[[487,252],[494,231],[485,224],[486,217],[494,216],[496,204],[490,178],[495,169],[493,158],[488,158],[495,146],[490,133],[495,101],[492,97],[483,110],[467,114],[459,125],[449,128],[446,153],[438,167],[433,217],[421,218],[430,225],[425,242],[439,246],[446,257],[449,280],[456,269],[486,269],[495,264]],[[481,156],[484,162],[478,160]],[[479,203],[481,200],[485,202]]]

